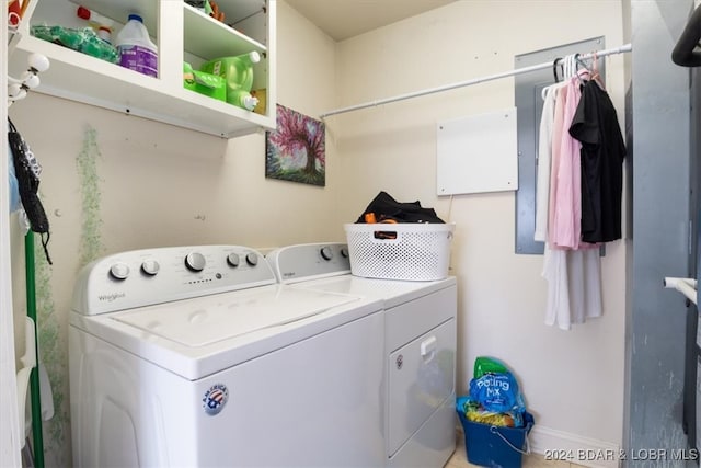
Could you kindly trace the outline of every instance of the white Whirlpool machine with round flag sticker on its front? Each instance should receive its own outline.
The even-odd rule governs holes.
[[[376,467],[377,298],[279,284],[241,246],[105,256],[69,327],[76,467]]]

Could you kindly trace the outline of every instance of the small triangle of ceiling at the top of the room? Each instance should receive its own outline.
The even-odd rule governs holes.
[[[286,0],[335,41],[395,23],[455,0]]]

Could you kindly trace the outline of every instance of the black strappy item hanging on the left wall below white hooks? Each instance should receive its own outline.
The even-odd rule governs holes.
[[[44,212],[44,206],[42,205],[38,196],[39,173],[42,168],[30,149],[30,146],[24,141],[24,138],[22,138],[22,135],[20,135],[10,118],[8,118],[8,123],[10,126],[8,132],[8,142],[12,150],[14,174],[18,179],[22,207],[24,208],[24,213],[26,213],[26,217],[30,221],[30,229],[42,235],[44,254],[46,255],[46,261],[50,265],[53,263],[47,248],[50,237],[48,218],[46,217],[46,212]]]

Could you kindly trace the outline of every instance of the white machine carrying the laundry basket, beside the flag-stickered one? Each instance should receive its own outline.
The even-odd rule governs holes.
[[[290,287],[382,301],[384,466],[443,467],[456,447],[456,278],[354,276],[344,243],[284,247],[267,260]]]

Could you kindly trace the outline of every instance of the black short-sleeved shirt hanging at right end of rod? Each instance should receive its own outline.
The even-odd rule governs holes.
[[[582,142],[582,240],[620,239],[625,144],[616,107],[596,80],[582,90],[570,135]]]

